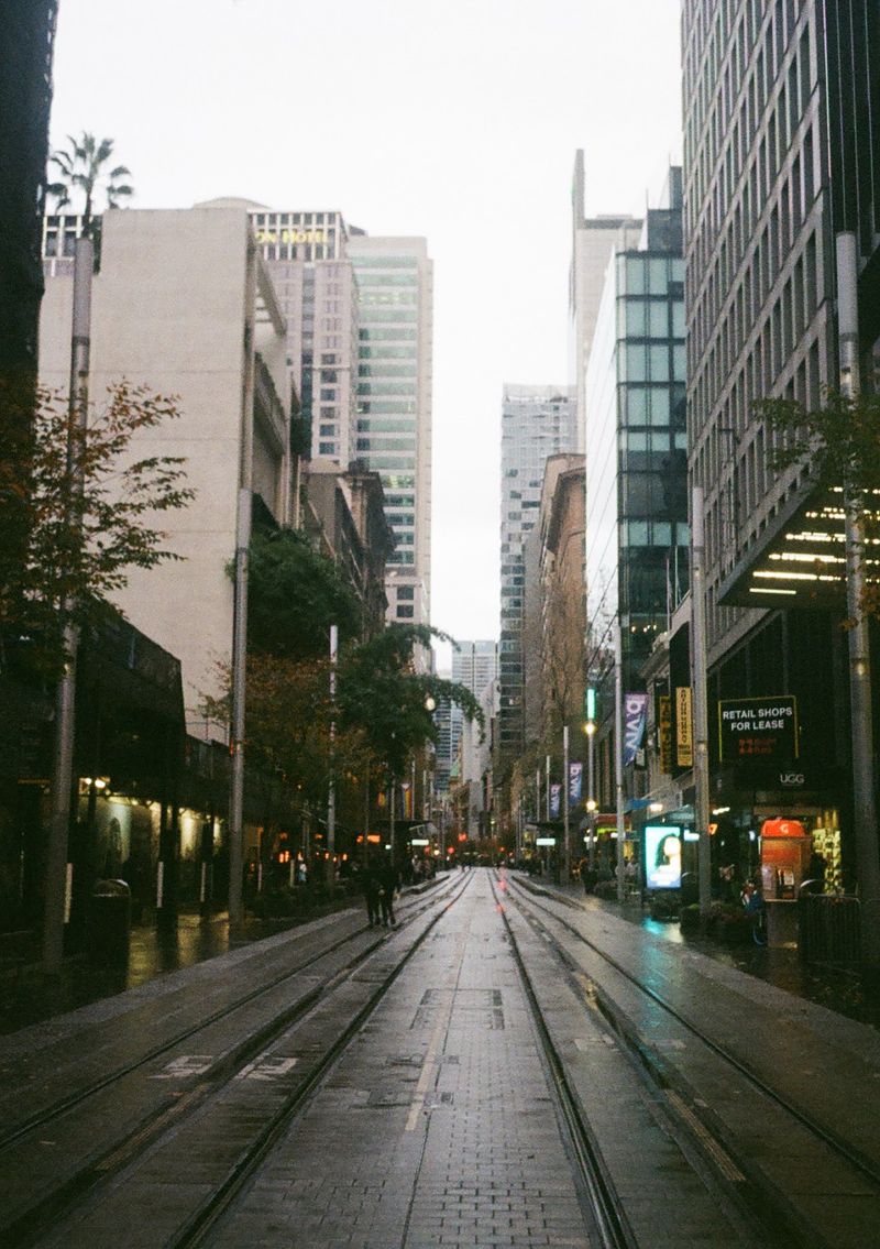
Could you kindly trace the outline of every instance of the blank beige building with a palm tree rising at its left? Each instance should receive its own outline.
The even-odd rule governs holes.
[[[40,327],[44,382],[66,388],[72,279],[49,277]],[[182,456],[196,491],[156,518],[181,557],[132,570],[116,605],[181,659],[191,732],[222,736],[198,711],[221,689],[232,647],[240,486],[280,522],[290,502],[283,321],[243,207],[107,212],[92,292],[90,397],[127,378],[177,397],[180,420],[137,436],[140,455]]]

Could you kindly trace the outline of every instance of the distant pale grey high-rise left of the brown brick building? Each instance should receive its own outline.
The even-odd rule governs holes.
[[[523,617],[526,541],[538,521],[544,463],[573,451],[575,390],[506,385],[501,437],[501,641],[498,748],[516,758],[524,744]]]

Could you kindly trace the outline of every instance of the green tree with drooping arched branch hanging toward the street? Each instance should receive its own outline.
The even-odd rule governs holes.
[[[426,701],[448,698],[483,726],[483,712],[466,686],[413,671],[417,646],[447,634],[428,624],[389,624],[377,637],[354,647],[340,669],[342,723],[366,733],[376,758],[392,776],[403,776],[408,757],[426,739],[437,741],[437,726]]]

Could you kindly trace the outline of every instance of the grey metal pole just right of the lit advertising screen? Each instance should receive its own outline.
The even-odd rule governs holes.
[[[699,903],[706,918],[711,906],[711,838],[709,836],[709,712],[706,702],[705,551],[703,487],[690,495],[690,683],[694,692],[694,817],[699,834]]]

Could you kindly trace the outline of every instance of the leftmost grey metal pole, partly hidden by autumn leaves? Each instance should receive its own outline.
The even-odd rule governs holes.
[[[91,280],[95,249],[91,239],[76,240],[74,260],[74,317],[70,345],[70,395],[67,431],[67,482],[71,500],[66,521],[74,523],[72,495],[84,487],[81,446],[74,430],[85,435],[89,427],[89,366],[91,353]],[[77,456],[79,451],[79,456]],[[79,463],[77,463],[79,460]],[[55,689],[55,741],[52,748],[51,811],[46,847],[45,901],[42,917],[42,967],[59,972],[64,959],[64,929],[70,919],[72,871],[67,864],[70,798],[74,783],[74,738],[76,718],[76,647],[79,629],[74,623],[74,600],[61,605],[64,672]]]

